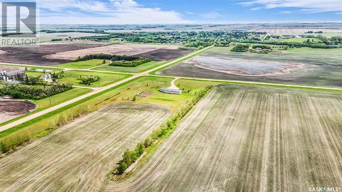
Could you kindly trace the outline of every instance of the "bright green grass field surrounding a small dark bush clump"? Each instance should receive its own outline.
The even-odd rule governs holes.
[[[103,87],[105,85],[109,85],[111,83],[115,83],[122,79],[129,77],[129,74],[116,74],[116,73],[109,73],[109,72],[94,72],[94,71],[82,71],[82,70],[67,70],[64,71],[65,76],[58,81],[62,83],[73,83],[77,86],[82,87]],[[79,83],[80,76],[98,76],[100,77],[99,81],[92,83],[92,85],[83,85]]]

